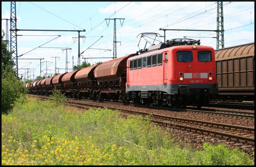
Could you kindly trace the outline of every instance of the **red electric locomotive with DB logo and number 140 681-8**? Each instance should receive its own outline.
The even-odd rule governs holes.
[[[127,60],[125,102],[201,107],[218,94],[214,49],[200,40],[167,40],[140,53]]]

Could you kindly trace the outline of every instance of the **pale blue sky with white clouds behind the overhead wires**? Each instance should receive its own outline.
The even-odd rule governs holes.
[[[11,2],[1,6],[2,19],[10,19]],[[154,39],[154,44],[164,42],[160,28],[217,30],[217,2],[16,2],[16,17],[19,76],[33,80],[40,76],[36,59],[43,59],[41,76],[55,74],[55,59],[56,72],[66,72],[66,55],[68,72],[73,71],[78,63],[78,30],[85,30],[80,32],[80,64],[92,65],[112,60],[114,20],[116,57],[122,57],[148,48]],[[224,47],[254,42],[254,1],[223,2],[223,19]],[[10,27],[8,21],[9,41]],[[6,20],[2,30],[6,33]],[[141,33],[157,33],[157,37],[140,38]],[[166,31],[165,36],[166,40],[200,39],[201,45],[217,47],[212,31]]]

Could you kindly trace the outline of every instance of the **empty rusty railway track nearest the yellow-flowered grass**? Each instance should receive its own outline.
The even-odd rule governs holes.
[[[41,97],[40,97],[41,98]],[[43,97],[42,99],[48,99],[47,97]],[[92,105],[81,102],[70,102],[65,101],[65,104],[76,106],[79,108],[104,108],[106,106],[103,105]],[[253,145],[254,147],[254,127],[243,127],[237,125],[223,124],[223,123],[215,123],[208,122],[202,120],[193,120],[193,119],[184,119],[177,117],[170,117],[166,115],[152,114],[146,113],[142,111],[134,111],[134,110],[126,110],[116,107],[107,107],[112,110],[120,110],[122,114],[127,116],[130,114],[142,115],[146,117],[148,114],[151,115],[150,120],[154,123],[168,129],[169,131],[172,129],[182,130],[192,134],[201,134],[212,137],[218,137],[219,140],[224,141],[234,141],[234,142],[243,142],[244,144]]]

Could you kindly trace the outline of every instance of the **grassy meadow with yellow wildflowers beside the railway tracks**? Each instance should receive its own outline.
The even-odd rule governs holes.
[[[2,114],[2,165],[254,165],[222,144],[180,148],[149,117],[53,103],[30,98]]]

